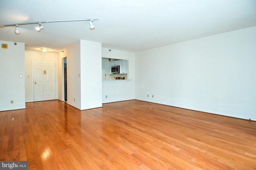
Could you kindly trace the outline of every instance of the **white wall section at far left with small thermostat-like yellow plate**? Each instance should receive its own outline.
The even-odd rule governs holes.
[[[25,105],[25,44],[0,41],[8,48],[0,48],[0,111],[24,109]],[[20,74],[22,78],[20,78]],[[13,104],[10,101],[13,100]]]

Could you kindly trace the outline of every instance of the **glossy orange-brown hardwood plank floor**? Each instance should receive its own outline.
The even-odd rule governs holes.
[[[36,170],[252,170],[256,122],[138,100],[0,112],[0,160]]]

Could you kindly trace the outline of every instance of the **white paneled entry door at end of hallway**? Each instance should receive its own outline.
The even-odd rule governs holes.
[[[34,101],[56,99],[55,61],[34,60]]]

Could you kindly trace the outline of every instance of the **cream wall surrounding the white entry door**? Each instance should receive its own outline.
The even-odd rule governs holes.
[[[34,82],[33,82],[33,60],[55,61],[58,66],[58,54],[42,53],[37,51],[25,51],[25,87],[26,102],[34,101]],[[58,68],[58,67],[57,67]],[[56,79],[58,79],[58,70],[56,69]],[[30,78],[28,78],[28,76]],[[56,96],[58,96],[58,81],[56,80]],[[57,99],[57,97],[56,97]]]

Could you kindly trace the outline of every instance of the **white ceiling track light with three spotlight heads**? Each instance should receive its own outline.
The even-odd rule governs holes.
[[[8,25],[2,25],[0,24],[0,28],[8,27],[8,26],[16,26],[14,33],[20,34],[20,30],[18,28],[19,25],[28,25],[28,24],[39,24],[39,26],[36,26],[36,31],[40,32],[44,27],[41,25],[42,23],[50,23],[50,22],[70,22],[70,21],[90,21],[90,29],[95,29],[92,22],[94,20],[99,20],[98,18],[90,18],[90,19],[84,19],[84,20],[62,20],[62,21],[40,21],[40,22],[26,22],[26,23],[14,23],[14,24],[8,24]]]

